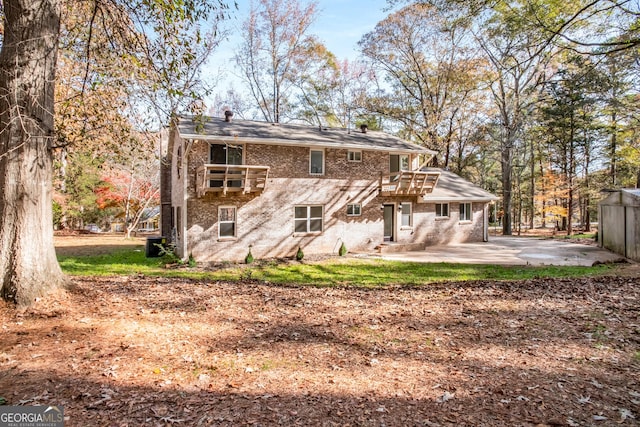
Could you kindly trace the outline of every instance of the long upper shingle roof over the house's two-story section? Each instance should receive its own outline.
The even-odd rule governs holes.
[[[232,120],[204,117],[193,120],[182,117],[178,123],[178,131],[184,139],[203,141],[250,142],[253,144],[292,145],[324,148],[350,148],[359,150],[380,150],[400,153],[435,154],[416,144],[404,141],[384,132],[337,128],[322,128],[273,124],[249,120]]]

